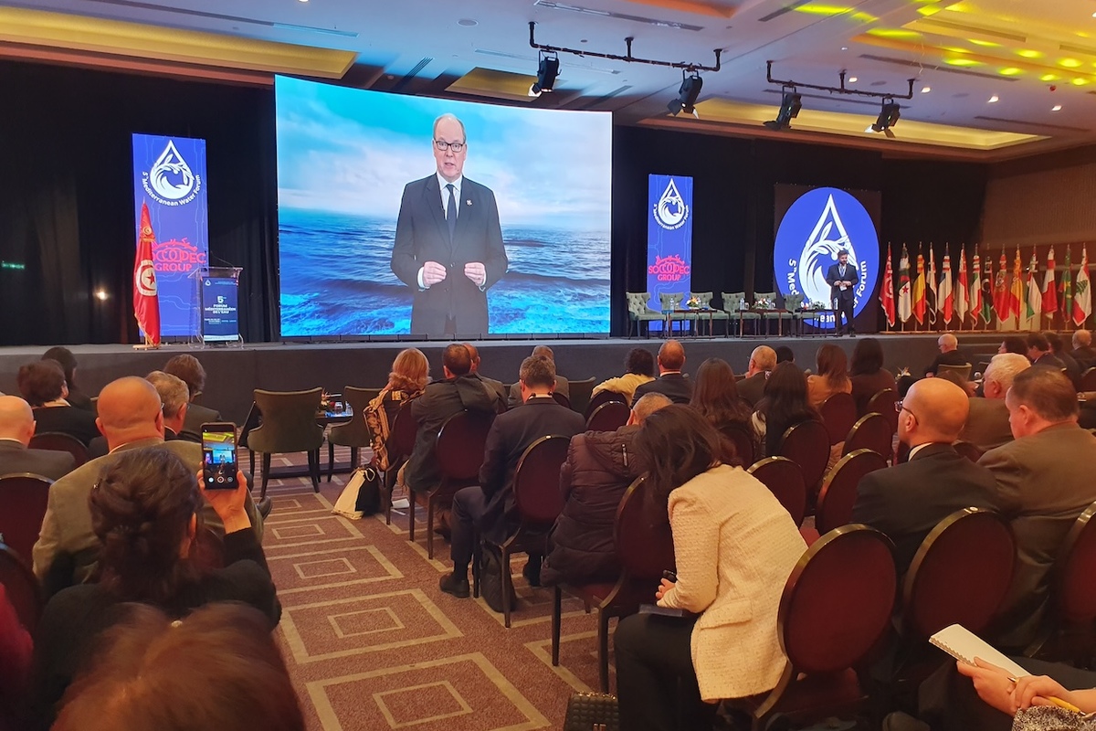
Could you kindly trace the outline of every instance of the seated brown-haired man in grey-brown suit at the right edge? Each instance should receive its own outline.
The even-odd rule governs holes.
[[[1041,628],[1050,570],[1077,516],[1096,501],[1096,436],[1077,425],[1077,396],[1061,370],[1028,368],[1005,397],[1014,442],[982,455],[997,481],[996,503],[1016,537],[1017,566],[998,613],[1006,649],[1024,648]]]

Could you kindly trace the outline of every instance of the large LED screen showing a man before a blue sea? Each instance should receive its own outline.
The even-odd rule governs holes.
[[[609,114],[275,90],[283,335],[608,332]]]

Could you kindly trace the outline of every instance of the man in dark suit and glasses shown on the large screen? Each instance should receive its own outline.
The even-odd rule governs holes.
[[[392,273],[414,292],[412,334],[477,334],[489,330],[487,290],[506,273],[499,207],[491,189],[464,176],[465,125],[434,121],[437,170],[403,189],[392,247]]]

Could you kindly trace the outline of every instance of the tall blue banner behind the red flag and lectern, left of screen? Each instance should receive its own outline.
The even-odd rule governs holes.
[[[160,334],[195,335],[197,302],[191,272],[208,265],[205,140],[134,135],[134,241],[140,206],[148,204],[156,244]]]

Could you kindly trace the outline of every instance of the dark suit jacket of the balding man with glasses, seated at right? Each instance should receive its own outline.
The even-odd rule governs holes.
[[[853,523],[866,523],[894,541],[901,573],[936,524],[963,507],[996,507],[993,475],[949,444],[929,444],[913,458],[860,479]]]

